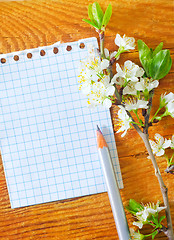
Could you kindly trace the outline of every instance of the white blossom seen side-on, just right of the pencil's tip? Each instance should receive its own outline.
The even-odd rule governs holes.
[[[128,116],[127,112],[125,111],[123,106],[119,106],[120,110],[118,110],[118,118],[119,118],[119,124],[121,127],[117,131],[119,132],[124,132],[121,137],[124,137],[127,133],[127,130],[131,127],[130,123],[132,122],[131,118]]]

